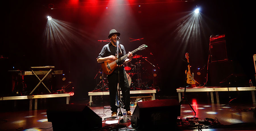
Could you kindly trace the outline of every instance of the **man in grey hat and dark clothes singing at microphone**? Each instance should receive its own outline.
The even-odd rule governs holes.
[[[118,33],[115,29],[110,30],[108,38],[111,40],[109,44],[106,44],[98,58],[97,62],[98,63],[103,63],[104,61],[110,60],[110,61],[115,61],[115,53],[116,53],[116,41],[117,41],[117,36],[120,36],[120,33]],[[119,44],[119,53],[121,53],[119,56],[126,55],[125,48],[123,45]],[[107,76],[108,78],[108,85],[109,85],[109,97],[110,97],[110,107],[112,111],[112,116],[117,115],[117,109],[118,107],[115,105],[115,100],[116,100],[116,92],[117,92],[117,83],[118,83],[118,69],[119,69],[119,86],[122,91],[122,95],[124,98],[124,107],[127,111],[127,115],[132,115],[130,111],[130,87],[128,83],[128,79],[126,76],[126,72],[123,66],[123,63],[128,63],[132,60],[132,53],[129,52],[127,54],[127,58],[123,59],[117,65],[119,65],[119,68],[115,68],[111,74]],[[119,58],[120,58],[119,57]]]

